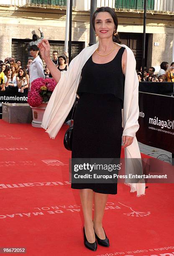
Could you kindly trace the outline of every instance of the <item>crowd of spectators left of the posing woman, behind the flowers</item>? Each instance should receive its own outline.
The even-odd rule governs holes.
[[[41,32],[41,28],[39,29]],[[32,86],[34,79],[38,77],[52,77],[48,67],[43,67],[43,62],[39,56],[38,46],[32,42],[29,43],[30,53],[27,63],[23,64],[19,59],[15,61],[15,59],[11,57],[5,58],[4,61],[0,60],[0,91],[5,91],[10,88],[18,90],[20,93],[28,93],[28,88]],[[52,61],[61,72],[67,71],[67,52],[64,52],[64,54],[59,56],[58,51],[53,51]]]

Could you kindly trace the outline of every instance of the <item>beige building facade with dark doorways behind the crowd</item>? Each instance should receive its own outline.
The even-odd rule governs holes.
[[[141,67],[144,0],[97,0],[97,7],[110,6],[118,16],[122,44],[133,50]],[[66,0],[0,0],[0,59],[12,56],[27,60],[26,46],[32,34],[49,39],[51,50],[64,51]],[[148,0],[146,15],[146,66],[173,61],[174,1]],[[72,56],[89,44],[90,0],[74,0],[72,12]],[[26,64],[26,63],[25,63]]]

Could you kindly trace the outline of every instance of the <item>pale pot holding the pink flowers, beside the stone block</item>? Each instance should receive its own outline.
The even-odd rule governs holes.
[[[47,104],[48,102],[46,103],[43,102],[41,103],[41,105],[39,105],[36,108],[31,107],[32,113],[33,113],[33,121],[32,121],[33,127],[41,128],[41,123],[42,123],[43,115],[44,115]]]

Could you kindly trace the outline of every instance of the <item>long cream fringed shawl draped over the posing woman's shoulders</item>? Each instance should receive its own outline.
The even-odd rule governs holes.
[[[83,49],[70,63],[67,72],[61,72],[61,78],[56,85],[54,92],[51,95],[49,103],[44,113],[41,127],[46,130],[50,138],[55,138],[61,126],[64,123],[69,111],[71,110],[76,92],[80,81],[81,71],[95,52],[99,45],[94,44],[90,47]],[[124,90],[124,106],[123,106],[123,136],[133,136],[133,143],[125,148],[125,174],[142,173],[141,154],[136,139],[136,132],[138,131],[138,77],[136,74],[136,60],[133,52],[128,46],[124,44],[117,44],[118,46],[125,47],[127,50],[127,68],[125,73],[125,90]],[[116,67],[115,67],[116,68]],[[114,70],[113,70],[114,72]],[[139,159],[138,166],[131,159]],[[130,180],[129,180],[130,182]],[[125,179],[125,184],[130,186],[130,192],[137,191],[137,196],[145,195],[145,183],[143,180],[138,183],[128,183]]]

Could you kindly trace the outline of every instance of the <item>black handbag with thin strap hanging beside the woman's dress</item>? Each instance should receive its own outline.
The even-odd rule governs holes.
[[[74,108],[76,108],[76,100],[77,98],[75,99],[75,102],[74,102]],[[74,108],[73,108],[73,111],[72,111],[72,117],[71,117],[71,122],[69,124],[69,128],[67,129],[66,133],[65,133],[65,136],[64,136],[64,147],[67,149],[67,150],[70,150],[72,151],[72,136],[73,136],[73,114],[74,114]]]

